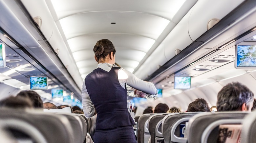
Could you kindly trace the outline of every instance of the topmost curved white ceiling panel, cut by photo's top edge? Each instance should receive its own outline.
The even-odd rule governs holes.
[[[186,13],[187,9],[190,9],[197,0],[162,0],[161,2],[155,0],[76,0],[76,3],[70,0],[62,0],[61,3],[58,0],[51,0],[51,2],[58,19],[89,11],[122,10],[150,13],[178,23],[183,17],[181,13]]]

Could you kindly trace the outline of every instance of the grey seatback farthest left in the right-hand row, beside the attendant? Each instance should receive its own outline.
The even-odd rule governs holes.
[[[145,130],[145,123],[148,120],[148,118],[153,115],[154,113],[150,113],[150,114],[143,114],[139,117],[138,120],[138,143],[144,143],[144,142],[148,142],[150,134],[149,132],[146,133],[146,139],[144,136],[144,130]],[[147,130],[148,131],[148,130]],[[148,137],[148,138],[147,138]],[[146,141],[147,140],[147,141]]]

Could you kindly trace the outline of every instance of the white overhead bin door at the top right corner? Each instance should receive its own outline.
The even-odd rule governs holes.
[[[207,25],[212,20],[221,20],[244,0],[199,0],[193,6],[188,20],[190,38],[195,41],[207,31]]]

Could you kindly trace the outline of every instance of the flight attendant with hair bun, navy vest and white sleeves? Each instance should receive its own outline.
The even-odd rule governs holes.
[[[116,50],[110,40],[97,41],[93,51],[98,68],[86,76],[82,99],[86,117],[97,113],[94,142],[136,143],[125,85],[148,94],[155,94],[157,89],[153,83],[140,80],[114,64]]]

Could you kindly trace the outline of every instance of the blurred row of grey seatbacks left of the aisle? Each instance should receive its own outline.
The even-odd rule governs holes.
[[[91,122],[83,114],[0,108],[0,129],[17,142],[84,143]]]

